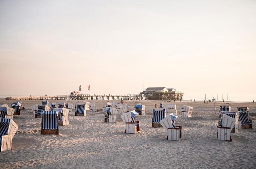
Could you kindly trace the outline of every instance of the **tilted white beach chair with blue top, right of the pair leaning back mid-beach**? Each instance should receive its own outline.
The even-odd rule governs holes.
[[[181,139],[182,127],[176,126],[174,121],[177,117],[178,116],[171,113],[160,121],[160,124],[167,132],[167,140],[180,141]]]

